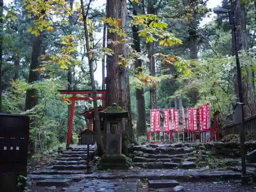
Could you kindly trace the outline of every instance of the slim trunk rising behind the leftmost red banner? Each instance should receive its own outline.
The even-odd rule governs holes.
[[[147,14],[155,14],[156,9],[154,8],[154,1],[147,2]],[[147,55],[148,59],[150,60],[150,75],[156,75],[156,64],[155,64],[155,57],[153,56],[153,43],[147,44]],[[150,109],[157,109],[157,93],[156,93],[156,85],[153,84],[150,86]]]

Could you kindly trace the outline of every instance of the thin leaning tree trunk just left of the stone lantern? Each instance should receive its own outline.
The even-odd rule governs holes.
[[[99,111],[98,111],[98,103],[97,103],[97,92],[96,92],[96,86],[95,86],[95,79],[94,79],[94,70],[93,70],[93,52],[90,49],[89,45],[89,33],[87,29],[87,15],[88,11],[90,9],[91,0],[87,7],[87,12],[84,9],[83,0],[80,0],[81,2],[81,10],[82,10],[82,17],[83,17],[83,29],[84,29],[84,36],[86,38],[86,51],[87,51],[87,58],[89,62],[89,68],[90,68],[90,77],[92,82],[92,91],[93,91],[93,107],[94,107],[94,123],[95,123],[95,130],[97,133],[97,151],[98,155],[103,155],[103,142],[101,137],[101,131],[100,131],[100,119],[99,119]]]

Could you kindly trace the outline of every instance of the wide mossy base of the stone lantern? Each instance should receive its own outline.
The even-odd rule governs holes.
[[[104,154],[98,164],[98,170],[129,169],[127,157],[123,154]]]

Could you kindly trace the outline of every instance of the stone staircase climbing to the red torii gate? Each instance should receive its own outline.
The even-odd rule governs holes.
[[[96,145],[90,146],[90,154],[95,151]],[[30,179],[37,180],[38,186],[58,186],[63,183],[80,181],[87,169],[87,146],[78,145],[68,147],[59,153],[51,166],[35,170],[29,175]]]

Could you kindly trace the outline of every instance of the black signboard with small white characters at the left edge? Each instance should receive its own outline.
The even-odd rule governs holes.
[[[0,113],[0,173],[26,172],[30,119]]]

